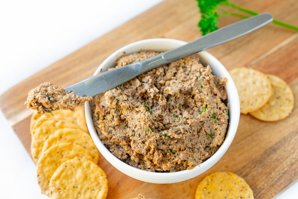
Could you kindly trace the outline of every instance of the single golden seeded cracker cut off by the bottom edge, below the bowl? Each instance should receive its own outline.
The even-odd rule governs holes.
[[[195,192],[195,199],[225,197],[253,199],[254,195],[244,179],[231,172],[215,172],[207,175]]]

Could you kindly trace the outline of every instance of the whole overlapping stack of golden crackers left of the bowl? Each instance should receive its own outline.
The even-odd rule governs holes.
[[[51,198],[106,198],[108,181],[97,165],[99,154],[83,107],[53,115],[35,112],[30,123],[31,154],[41,192]]]

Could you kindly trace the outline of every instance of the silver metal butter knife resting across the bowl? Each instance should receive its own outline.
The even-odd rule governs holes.
[[[152,70],[153,68],[167,64],[187,55],[198,53],[202,50],[206,50],[219,44],[223,44],[227,41],[257,30],[258,28],[270,23],[272,20],[272,16],[269,13],[263,13],[238,21],[209,33],[206,36],[191,41],[181,47],[166,51],[133,64],[128,64],[123,67],[94,75],[70,87],[67,87],[65,90],[71,90],[79,96],[98,95],[102,92],[117,87],[144,72]]]

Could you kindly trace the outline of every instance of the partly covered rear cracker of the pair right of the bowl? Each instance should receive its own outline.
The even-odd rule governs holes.
[[[290,115],[294,108],[294,94],[291,87],[275,75],[267,75],[272,94],[269,101],[260,109],[249,114],[262,121],[278,121]]]

